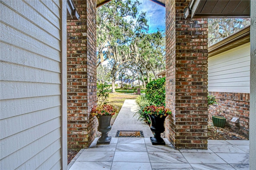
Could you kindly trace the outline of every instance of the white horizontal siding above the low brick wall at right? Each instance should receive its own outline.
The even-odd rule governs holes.
[[[208,59],[208,91],[250,93],[250,43]]]

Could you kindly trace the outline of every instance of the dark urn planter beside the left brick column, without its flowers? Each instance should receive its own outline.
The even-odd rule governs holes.
[[[110,144],[111,136],[108,136],[108,132],[111,130],[112,115],[99,115],[97,116],[99,121],[98,131],[101,132],[101,136],[97,141],[97,144]]]

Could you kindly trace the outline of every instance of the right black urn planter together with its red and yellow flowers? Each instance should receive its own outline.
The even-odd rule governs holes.
[[[164,120],[165,118],[172,114],[170,109],[164,106],[146,106],[143,112],[148,114],[150,117],[150,129],[154,134],[154,137],[150,137],[151,143],[153,145],[165,145],[163,138],[161,138],[161,133],[164,132]]]

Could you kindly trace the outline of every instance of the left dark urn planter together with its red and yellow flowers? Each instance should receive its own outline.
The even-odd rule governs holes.
[[[101,136],[98,139],[97,144],[110,144],[111,136],[108,136],[108,132],[111,130],[110,122],[112,115],[115,114],[116,108],[110,104],[94,106],[92,108],[92,115],[98,118],[98,131],[101,132]]]

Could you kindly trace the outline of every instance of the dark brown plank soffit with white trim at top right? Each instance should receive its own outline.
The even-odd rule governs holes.
[[[250,0],[191,0],[185,18],[249,18]]]

